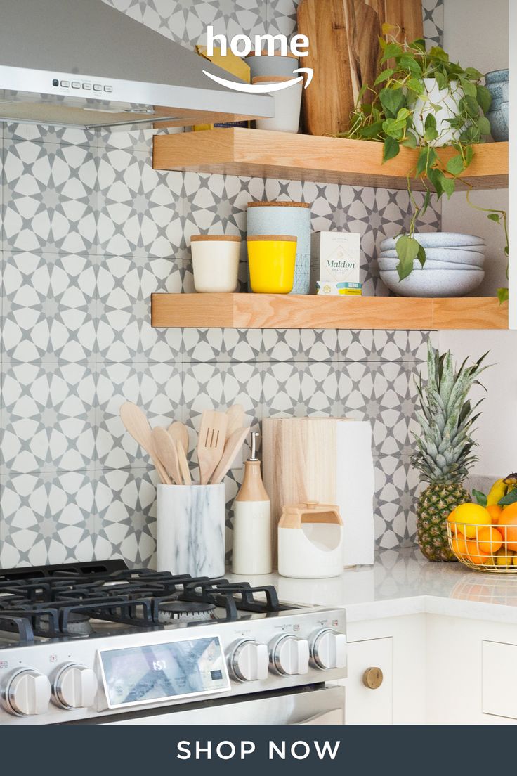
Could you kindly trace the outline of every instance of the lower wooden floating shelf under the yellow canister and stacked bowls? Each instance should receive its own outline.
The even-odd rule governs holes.
[[[154,293],[156,328],[507,329],[508,303],[491,296],[301,296],[253,293]]]

